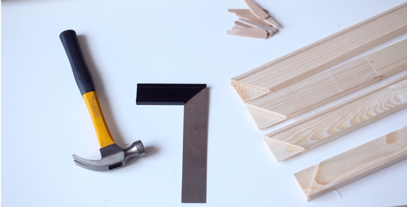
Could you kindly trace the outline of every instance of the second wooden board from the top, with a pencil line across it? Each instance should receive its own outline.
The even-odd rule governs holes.
[[[407,39],[248,103],[259,129],[268,128],[407,69]]]

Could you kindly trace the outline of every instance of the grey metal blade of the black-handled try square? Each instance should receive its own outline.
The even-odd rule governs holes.
[[[182,203],[206,203],[208,155],[207,88],[183,109]]]

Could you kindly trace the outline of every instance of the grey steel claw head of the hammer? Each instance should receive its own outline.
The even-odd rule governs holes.
[[[110,144],[109,146],[100,148],[101,159],[91,160],[84,159],[77,155],[72,155],[75,159],[74,162],[77,166],[95,171],[108,171],[115,168],[124,166],[127,159],[130,157],[144,157],[143,143],[139,141],[133,142],[131,146],[122,149],[117,144]]]

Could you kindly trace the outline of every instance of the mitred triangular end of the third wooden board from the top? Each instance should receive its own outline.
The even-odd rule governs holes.
[[[268,137],[264,137],[264,143],[270,148],[272,155],[274,155],[277,162],[283,161],[295,155],[301,154],[304,148],[291,146],[281,142],[274,141]]]

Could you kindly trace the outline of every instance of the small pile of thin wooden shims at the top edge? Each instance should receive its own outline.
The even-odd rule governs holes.
[[[245,1],[250,10],[228,10],[235,13],[239,20],[235,21],[235,26],[227,34],[267,39],[277,32],[279,23],[270,17],[267,10],[263,10],[252,0]]]

